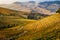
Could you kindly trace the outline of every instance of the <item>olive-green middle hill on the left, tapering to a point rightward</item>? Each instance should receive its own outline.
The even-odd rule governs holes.
[[[22,26],[26,23],[32,23],[34,22],[33,20],[29,20],[29,19],[23,19],[23,18],[16,18],[16,17],[6,17],[6,16],[3,16],[3,17],[0,17],[0,29],[3,29],[3,28],[10,28],[10,27],[13,27],[13,26]]]

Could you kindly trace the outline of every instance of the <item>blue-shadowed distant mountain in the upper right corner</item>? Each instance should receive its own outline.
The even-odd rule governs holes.
[[[53,12],[60,8],[60,1],[47,1],[39,4],[39,7],[46,8],[47,10],[51,10]]]

